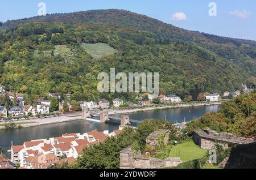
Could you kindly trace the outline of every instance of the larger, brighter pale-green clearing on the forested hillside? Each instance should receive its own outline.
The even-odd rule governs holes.
[[[101,58],[105,55],[114,54],[117,52],[114,48],[110,47],[105,43],[97,43],[97,44],[86,44],[82,43],[82,48],[84,48],[93,58]]]

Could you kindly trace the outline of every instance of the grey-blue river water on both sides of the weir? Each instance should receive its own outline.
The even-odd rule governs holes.
[[[208,112],[217,112],[218,108],[220,108],[219,105],[153,110],[148,112],[132,113],[130,114],[130,119],[166,119],[172,123],[179,123],[199,118]],[[115,116],[121,115],[115,114]],[[0,130],[0,148],[2,148],[5,154],[10,157],[10,155],[7,154],[7,150],[10,149],[11,141],[13,141],[13,145],[21,145],[23,142],[30,140],[48,139],[61,136],[65,133],[84,133],[95,129],[98,131],[109,130],[109,132],[112,132],[118,129],[118,124],[100,124],[97,122],[78,120],[52,125],[24,127],[17,130]]]

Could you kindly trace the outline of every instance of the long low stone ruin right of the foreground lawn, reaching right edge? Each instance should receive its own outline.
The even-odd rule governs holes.
[[[202,149],[213,149],[215,144],[220,144],[223,148],[234,145],[250,144],[254,138],[243,138],[230,133],[217,133],[212,130],[194,130],[193,140]]]

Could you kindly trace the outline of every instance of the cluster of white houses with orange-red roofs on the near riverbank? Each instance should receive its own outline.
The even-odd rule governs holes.
[[[62,162],[71,163],[81,156],[83,149],[121,132],[121,129],[112,133],[93,130],[84,134],[63,134],[56,138],[31,140],[11,146],[11,161],[19,162],[20,167],[26,169],[48,169]]]

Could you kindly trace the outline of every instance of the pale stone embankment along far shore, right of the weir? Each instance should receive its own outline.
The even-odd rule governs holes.
[[[127,109],[127,110],[108,110],[109,115],[111,114],[130,114],[130,113],[141,113],[151,110],[162,110],[162,109],[174,109],[174,108],[189,108],[189,107],[198,107],[198,106],[213,106],[221,105],[222,102],[212,102],[212,103],[201,103],[201,104],[182,104],[182,105],[170,105],[170,106],[161,106],[161,107],[148,107],[140,109]]]

